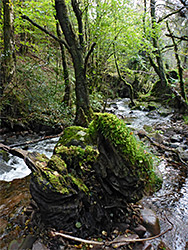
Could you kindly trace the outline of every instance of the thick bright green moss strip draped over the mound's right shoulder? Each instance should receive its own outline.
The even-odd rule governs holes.
[[[96,114],[94,121],[89,126],[89,132],[94,139],[98,134],[102,134],[125,159],[125,163],[132,167],[132,172],[138,174],[145,183],[148,182],[153,169],[152,155],[142,142],[136,139],[123,120],[112,114]],[[126,168],[124,169],[126,175]]]

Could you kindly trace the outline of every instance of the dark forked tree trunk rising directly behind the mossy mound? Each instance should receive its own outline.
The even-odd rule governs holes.
[[[71,22],[68,16],[68,10],[65,0],[55,0],[55,9],[57,19],[61,25],[61,29],[65,36],[65,40],[69,45],[69,52],[71,54],[74,71],[75,71],[75,91],[76,91],[76,118],[75,124],[86,126],[87,120],[91,118],[91,108],[89,102],[89,93],[87,87],[87,80],[84,70],[84,48],[83,48],[83,35],[80,33],[82,29],[81,12],[79,11],[78,2],[72,1],[73,10],[78,20],[79,38],[73,31]]]

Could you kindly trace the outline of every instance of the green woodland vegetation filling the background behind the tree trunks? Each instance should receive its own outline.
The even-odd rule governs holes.
[[[9,4],[8,0],[4,0],[4,2],[5,5],[6,2],[7,5]],[[170,1],[169,4],[172,10],[176,9],[175,3]],[[54,39],[54,37],[59,37],[57,34],[58,21],[54,18],[56,15],[54,3],[49,0],[42,2],[16,0],[11,2],[12,5],[14,5],[15,19],[12,20],[14,36],[11,39],[15,43],[12,50],[16,55],[16,64],[13,82],[8,84],[0,82],[0,110],[3,112],[0,119],[4,126],[11,124],[10,127],[14,127],[13,125],[17,124],[29,127],[33,121],[50,126],[55,124],[69,126],[73,124],[75,116],[78,116],[77,106],[80,105],[81,108],[84,106],[82,92],[86,96],[89,94],[88,107],[91,106],[94,111],[99,111],[104,100],[109,97],[121,96],[124,93],[124,89],[126,89],[124,82],[132,86],[131,89],[133,88],[136,97],[148,93],[154,82],[158,96],[161,95],[161,90],[168,92],[168,88],[166,90],[161,88],[161,82],[168,79],[170,87],[176,88],[179,93],[184,87],[185,93],[187,91],[187,40],[185,37],[186,29],[182,29],[182,27],[186,27],[185,22],[187,21],[178,13],[165,18],[165,14],[170,14],[165,6],[163,9],[164,17],[158,17],[157,12],[155,12],[155,8],[157,8],[155,4],[151,8],[153,12],[149,13],[149,6],[135,5],[134,1],[131,0],[97,1],[96,4],[80,1],[77,5],[79,8],[77,13],[83,13],[80,16],[81,27],[77,22],[71,1],[66,1],[67,15],[75,32],[76,41],[78,43],[84,41],[81,44],[83,47],[81,57],[85,64],[80,67],[82,69],[84,67],[83,79],[87,80],[87,93],[85,85],[82,91],[78,91],[79,84],[75,88],[78,77],[75,73],[77,72],[74,68],[75,63],[72,61],[74,53],[70,53],[70,46],[63,43],[63,56],[58,39]],[[3,10],[0,16],[1,30],[6,28],[3,18],[7,13],[3,6],[1,3]],[[29,17],[32,23],[28,19],[23,19],[23,15]],[[163,18],[164,20],[168,19],[168,29]],[[177,28],[174,27],[174,21]],[[182,23],[184,23],[183,26]],[[42,27],[43,31],[35,24]],[[82,33],[79,30],[81,28]],[[173,40],[176,45],[176,57],[174,57],[173,46],[169,46],[172,43],[171,33],[168,37],[163,35],[165,29],[168,33],[168,30],[172,28],[174,37],[176,37],[176,40]],[[50,35],[46,31],[50,32]],[[64,32],[60,33],[62,33],[60,35],[64,41],[65,34]],[[6,71],[3,64],[8,44],[8,40],[4,41],[3,34],[3,32],[0,33],[2,76],[5,75]],[[178,36],[181,39],[178,39]],[[114,53],[116,54],[116,62]],[[178,65],[174,58],[178,59]],[[68,65],[69,90],[71,92],[69,93],[71,99],[69,105],[64,102],[67,91],[63,66],[65,61]],[[117,72],[115,63],[119,66],[120,72]],[[170,72],[179,72],[176,75],[176,81],[172,81]],[[181,86],[179,79],[181,79]],[[125,93],[128,92],[125,90]],[[169,99],[172,97],[170,93]],[[86,100],[88,100],[88,96]],[[80,110],[79,108],[79,114]],[[82,110],[86,113],[84,107]],[[88,112],[92,112],[90,108],[88,108]],[[87,120],[87,117],[84,119]]]

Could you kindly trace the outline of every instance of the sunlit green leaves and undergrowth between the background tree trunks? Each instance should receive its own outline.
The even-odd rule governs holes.
[[[9,94],[4,97],[1,103],[8,104],[10,110],[13,111],[12,116],[14,118],[38,118],[47,123],[58,121],[61,123],[63,121],[64,124],[70,125],[73,122],[75,106],[69,108],[62,104],[65,84],[59,44],[21,18],[21,15],[27,15],[48,31],[56,34],[53,2],[49,0],[42,2],[15,0],[10,1],[10,3],[14,4],[17,79],[13,85],[8,87],[7,93]],[[71,23],[76,35],[79,35],[71,2],[67,1],[67,4]],[[176,3],[171,1],[168,1],[168,4],[172,10],[177,7]],[[176,67],[173,64],[175,60],[171,52],[170,39],[165,35],[164,21],[156,22],[155,30],[153,30],[149,8],[144,13],[143,6],[135,4],[131,0],[84,0],[79,2],[79,7],[82,11],[84,24],[85,57],[92,44],[96,42],[96,47],[90,55],[87,65],[91,106],[95,111],[101,110],[101,103],[108,95],[113,97],[116,96],[113,94],[114,92],[117,94],[117,83],[113,83],[111,80],[107,82],[106,80],[108,75],[116,74],[113,44],[116,47],[117,63],[122,76],[129,83],[134,82],[135,76],[138,79],[140,87],[137,89],[135,87],[136,91],[149,91],[153,82],[157,80],[156,75],[150,70],[151,65],[148,60],[148,55],[154,60],[157,56],[152,38],[158,37],[159,48],[165,62],[170,67],[169,70],[171,70],[171,67]],[[165,8],[160,9],[160,11],[159,13],[157,9],[157,21],[162,20],[165,15],[170,13],[169,9]],[[173,34],[176,36],[185,36],[187,32],[187,28],[185,28],[187,21],[182,14],[187,12],[186,9],[182,11],[168,18]],[[143,18],[144,23],[141,21]],[[0,12],[0,30],[3,30],[2,11]],[[1,32],[1,56],[3,54],[2,36]],[[176,41],[178,42],[182,65],[187,67],[187,42]],[[66,57],[73,87],[75,82],[73,66],[67,52]],[[153,75],[150,75],[151,73]],[[173,82],[173,86],[178,89],[178,81]],[[13,97],[12,101],[10,101],[10,97]],[[76,97],[73,94],[73,104],[75,99]]]

